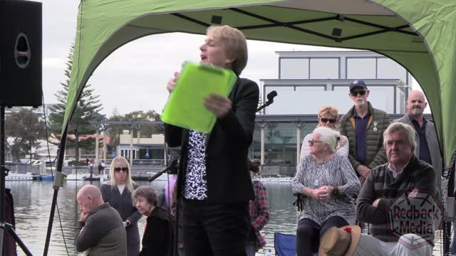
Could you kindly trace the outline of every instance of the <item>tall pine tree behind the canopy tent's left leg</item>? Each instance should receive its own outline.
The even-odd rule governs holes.
[[[61,129],[63,125],[63,116],[65,114],[66,102],[68,101],[68,88],[70,85],[71,66],[73,65],[74,46],[71,46],[66,63],[65,76],[66,81],[61,82],[63,90],[56,92],[58,104],[55,107],[50,107],[51,114],[49,115],[50,130],[52,136],[61,139]],[[103,110],[100,104],[99,95],[94,95],[94,90],[90,85],[84,87],[81,98],[78,102],[76,110],[73,112],[70,123],[68,125],[68,134],[74,134],[74,138],[68,136],[66,138],[68,146],[73,146],[75,149],[76,163],[79,162],[79,148],[93,149],[95,147],[95,139],[93,137],[85,137],[85,135],[93,135],[96,130],[90,121],[100,121],[104,116],[100,114]],[[83,137],[83,139],[81,139]]]

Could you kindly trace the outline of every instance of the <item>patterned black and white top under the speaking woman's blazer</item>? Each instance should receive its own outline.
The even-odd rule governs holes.
[[[184,197],[193,200],[207,198],[206,142],[208,134],[190,130],[188,132],[187,173]]]

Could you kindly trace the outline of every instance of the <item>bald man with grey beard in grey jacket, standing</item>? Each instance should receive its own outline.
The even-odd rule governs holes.
[[[440,154],[439,141],[435,126],[425,119],[423,112],[427,102],[423,92],[414,90],[408,95],[406,103],[407,114],[393,122],[409,124],[415,129],[415,156],[434,167],[437,175],[437,187],[442,191],[442,154]]]

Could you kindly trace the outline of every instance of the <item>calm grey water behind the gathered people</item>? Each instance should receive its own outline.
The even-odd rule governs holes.
[[[48,255],[67,255],[67,250],[68,255],[76,255],[73,236],[80,215],[76,193],[86,183],[89,182],[67,181],[65,187],[58,191],[60,220],[56,210]],[[150,184],[147,181],[138,183],[140,185]],[[93,184],[99,186],[100,183],[93,182]],[[165,181],[155,181],[152,186],[157,191],[162,191],[165,184]],[[296,208],[291,205],[294,200],[291,196],[291,183],[264,183],[264,186],[266,186],[269,194],[271,219],[263,230],[268,243],[264,249],[260,250],[260,254],[264,254],[270,249],[274,255],[274,232],[296,233]],[[14,196],[16,232],[33,255],[43,255],[53,196],[52,183],[47,181],[10,181],[6,182],[6,188],[11,188],[11,193]],[[141,236],[144,223],[145,218],[142,217],[139,222]],[[441,240],[436,242],[434,255],[442,255],[440,242]],[[24,255],[19,247],[18,254]]]

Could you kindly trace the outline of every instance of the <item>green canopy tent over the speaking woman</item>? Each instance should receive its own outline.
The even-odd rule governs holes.
[[[84,85],[110,53],[142,36],[226,24],[252,40],[373,50],[400,63],[425,92],[448,165],[456,148],[455,10],[455,0],[82,0],[61,149]],[[61,160],[63,152],[58,170]]]

